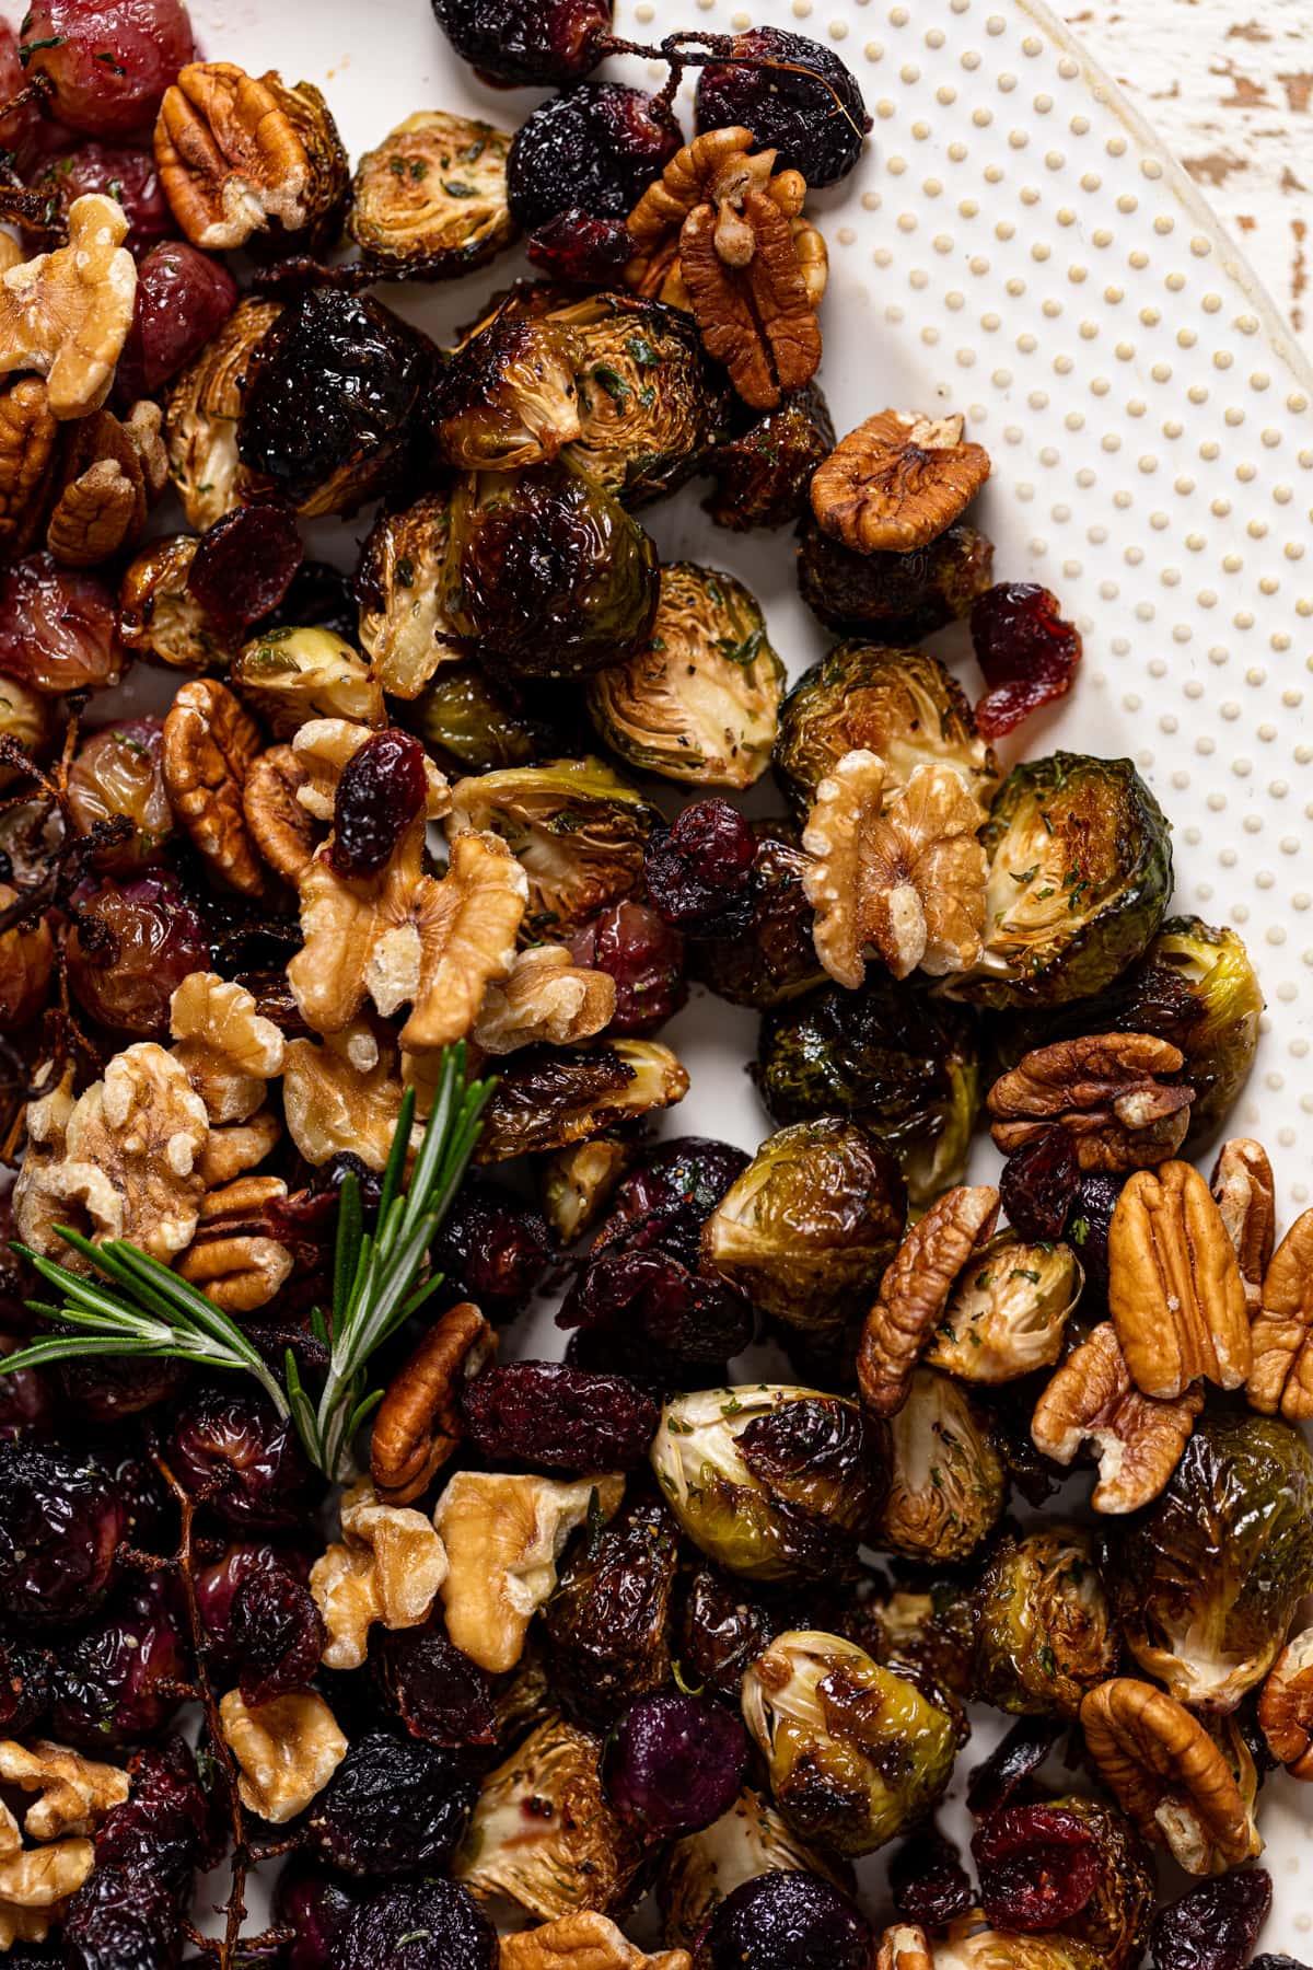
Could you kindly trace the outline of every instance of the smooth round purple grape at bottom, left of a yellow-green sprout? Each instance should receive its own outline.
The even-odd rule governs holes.
[[[748,1767],[742,1722],[707,1696],[640,1696],[610,1738],[602,1785],[644,1840],[675,1840],[728,1812]]]

